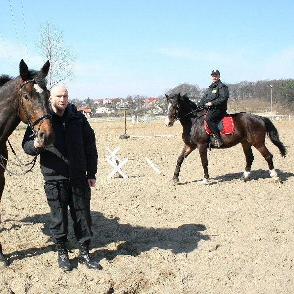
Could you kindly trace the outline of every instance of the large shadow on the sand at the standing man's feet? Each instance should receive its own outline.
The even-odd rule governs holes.
[[[206,230],[205,225],[196,223],[186,223],[176,228],[153,228],[139,225],[120,223],[119,218],[106,218],[97,211],[91,211],[93,238],[91,248],[94,249],[93,257],[96,260],[113,260],[118,255],[138,256],[142,252],[152,248],[171,250],[174,254],[188,253],[198,247],[201,240],[208,241],[210,237],[202,234]],[[69,251],[78,248],[78,244],[73,231],[73,221],[68,214],[68,248]],[[50,236],[49,224],[50,214],[34,215],[26,217],[19,222],[25,225],[43,223],[42,233]],[[106,248],[110,245],[110,248]],[[55,245],[48,238],[47,244],[41,248],[31,247],[24,250],[16,250],[6,253],[8,262],[20,260],[27,256],[37,256],[49,251],[56,251]],[[77,257],[73,259],[73,267],[77,267]]]

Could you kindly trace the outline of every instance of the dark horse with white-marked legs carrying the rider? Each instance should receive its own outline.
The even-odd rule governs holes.
[[[202,167],[204,169],[204,179],[202,183],[208,184],[208,160],[207,148],[209,146],[209,135],[204,129],[203,110],[197,109],[196,104],[189,98],[180,94],[168,96],[167,98],[167,116],[165,124],[172,126],[176,120],[179,120],[183,126],[184,149],[179,156],[172,178],[173,185],[179,181],[179,173],[184,159],[195,149],[198,148]],[[286,148],[279,140],[279,134],[273,123],[268,118],[254,115],[251,113],[240,112],[230,115],[234,121],[235,132],[231,135],[222,135],[223,145],[221,148],[233,147],[241,143],[246,158],[245,172],[240,180],[246,181],[249,178],[251,165],[254,160],[251,147],[255,147],[265,158],[269,165],[270,176],[276,183],[282,183],[274,170],[272,163],[272,154],[265,145],[266,134],[270,141],[279,148],[281,156],[286,156]]]

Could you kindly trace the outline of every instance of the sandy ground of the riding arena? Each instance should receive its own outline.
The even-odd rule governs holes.
[[[129,139],[119,139],[123,123],[92,126],[99,172],[92,188],[91,252],[103,270],[77,263],[72,221],[68,246],[74,269],[58,267],[37,163],[23,176],[6,175],[0,241],[9,267],[0,271],[1,294],[294,293],[294,122],[275,123],[289,146],[286,158],[266,140],[283,184],[274,183],[255,149],[251,179],[240,182],[245,156],[238,145],[209,152],[209,186],[201,184],[197,150],[184,161],[180,184],[172,186],[183,147],[180,124],[127,123]],[[134,137],[166,134],[176,136]],[[20,147],[23,135],[15,131],[10,142],[29,160]],[[112,168],[105,146],[121,147],[117,154],[128,159],[128,179],[106,178]],[[155,173],[145,156],[165,175]]]

